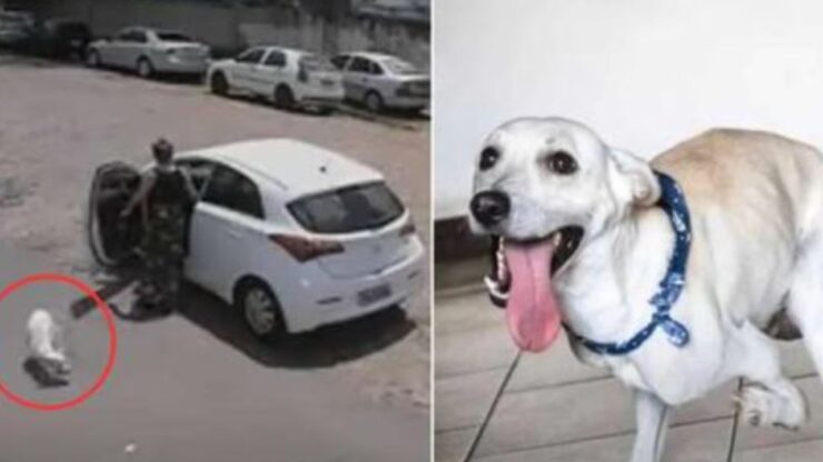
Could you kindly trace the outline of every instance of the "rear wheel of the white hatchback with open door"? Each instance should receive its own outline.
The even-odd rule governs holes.
[[[280,303],[266,283],[257,280],[244,283],[238,290],[237,303],[255,335],[267,341],[285,335]]]

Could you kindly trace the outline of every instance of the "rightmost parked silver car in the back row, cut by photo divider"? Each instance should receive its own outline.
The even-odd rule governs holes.
[[[346,98],[374,112],[422,110],[429,104],[429,77],[397,57],[356,52],[336,56],[331,62],[343,72]]]

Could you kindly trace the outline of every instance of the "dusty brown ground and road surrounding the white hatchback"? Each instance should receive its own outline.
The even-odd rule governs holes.
[[[99,271],[89,255],[83,209],[96,167],[112,160],[141,165],[158,137],[179,151],[288,137],[345,153],[386,175],[428,245],[428,121],[360,116],[357,108],[331,116],[279,111],[211,96],[190,81],[140,80],[0,54],[0,283],[56,271],[89,281],[117,310],[130,305],[129,282]],[[102,320],[83,310],[81,298],[59,292],[42,302],[66,315],[71,307],[79,310],[72,323],[82,337],[80,351],[105,340]],[[0,425],[16,429],[0,436],[3,448],[13,448],[4,456],[427,459],[428,288],[408,315],[388,310],[277,346],[256,340],[236,312],[197,288],[185,289],[181,304],[169,317],[118,318],[118,363],[103,390],[80,409],[43,414],[1,402]],[[2,308],[4,345],[22,342],[16,327],[22,327],[24,309]],[[31,383],[14,372],[19,350],[2,350],[8,354],[0,373],[10,388],[26,391]],[[89,361],[78,374],[95,372]],[[65,398],[60,391],[31,392]]]

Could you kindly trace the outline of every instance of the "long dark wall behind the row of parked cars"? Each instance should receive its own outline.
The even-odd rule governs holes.
[[[147,0],[38,0],[43,16],[81,18],[98,36],[126,26],[182,30],[218,51],[272,43],[328,54],[349,50],[380,50],[429,67],[428,28],[391,21],[349,18],[328,23],[288,7],[230,8],[192,2]]]

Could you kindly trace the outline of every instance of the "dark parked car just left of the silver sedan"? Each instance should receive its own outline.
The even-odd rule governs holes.
[[[34,27],[31,51],[48,58],[85,59],[86,49],[91,41],[91,30],[82,21],[52,18]]]

